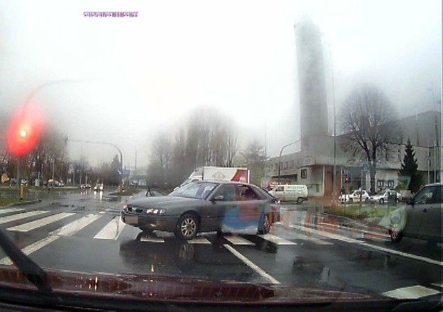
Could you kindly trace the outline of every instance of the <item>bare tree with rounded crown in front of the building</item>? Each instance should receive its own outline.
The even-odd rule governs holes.
[[[373,85],[354,89],[341,107],[342,148],[353,157],[367,160],[372,192],[377,162],[383,153],[388,153],[390,144],[397,141],[395,116],[395,107],[388,97]]]

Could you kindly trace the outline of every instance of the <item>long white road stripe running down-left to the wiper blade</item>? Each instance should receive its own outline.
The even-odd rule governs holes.
[[[74,222],[64,225],[59,229],[55,229],[53,232],[49,233],[49,236],[46,236],[44,239],[41,239],[39,241],[36,241],[35,243],[26,246],[25,248],[21,249],[21,252],[26,255],[32,254],[40,248],[43,248],[44,246],[57,241],[57,239],[60,239],[60,237],[62,236],[71,236],[72,234],[75,234],[80,229],[97,220],[99,217],[100,216],[98,215],[89,214],[88,216],[84,216],[83,218],[75,220]],[[11,262],[12,261],[9,257],[4,257],[0,260],[0,264],[11,265]]]

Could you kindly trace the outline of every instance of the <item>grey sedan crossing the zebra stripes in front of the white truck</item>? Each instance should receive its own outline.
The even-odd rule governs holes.
[[[200,181],[168,196],[128,202],[121,218],[145,232],[174,232],[180,239],[193,239],[199,232],[266,234],[279,214],[278,199],[253,184]]]

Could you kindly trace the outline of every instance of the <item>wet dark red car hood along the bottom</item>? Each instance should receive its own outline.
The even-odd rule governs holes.
[[[226,302],[242,304],[320,303],[370,300],[368,295],[275,284],[181,279],[151,275],[114,275],[45,270],[53,294],[155,302]],[[0,266],[0,288],[36,291],[14,266]],[[52,295],[52,294],[51,294]],[[380,298],[379,298],[380,299]]]

